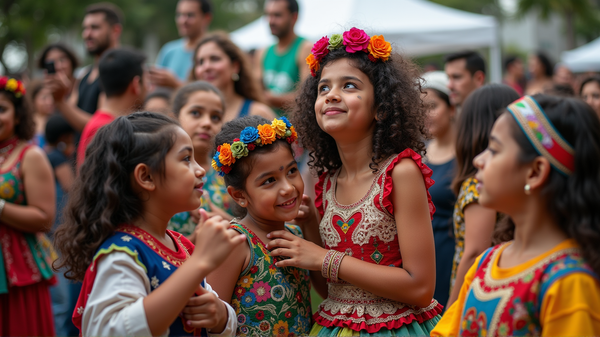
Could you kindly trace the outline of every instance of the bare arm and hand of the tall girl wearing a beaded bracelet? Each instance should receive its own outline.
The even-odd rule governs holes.
[[[390,268],[346,256],[340,265],[339,278],[375,295],[426,307],[435,288],[435,252],[423,175],[408,159],[396,165],[392,179],[394,186],[402,186],[394,189],[393,203],[403,267]],[[271,255],[290,257],[277,262],[277,266],[320,271],[327,251],[292,236],[284,231],[269,234],[268,237],[277,239],[268,248],[278,248]]]

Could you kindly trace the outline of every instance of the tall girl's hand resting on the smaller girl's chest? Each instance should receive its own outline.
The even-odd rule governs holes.
[[[289,257],[289,259],[276,262],[277,267],[293,266],[308,270],[321,270],[323,258],[327,254],[326,249],[285,230],[271,232],[267,234],[267,237],[271,239],[267,244],[271,256]]]

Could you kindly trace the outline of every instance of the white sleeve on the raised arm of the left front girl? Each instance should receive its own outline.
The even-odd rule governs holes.
[[[143,303],[150,293],[150,282],[144,269],[123,252],[102,257],[96,268],[96,280],[83,311],[81,334],[152,335]]]

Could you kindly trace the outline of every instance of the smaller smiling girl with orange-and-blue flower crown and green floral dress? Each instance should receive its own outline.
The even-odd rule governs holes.
[[[311,327],[308,272],[276,265],[267,249],[267,233],[301,237],[288,225],[298,215],[304,182],[291,144],[297,138],[285,118],[269,122],[248,116],[226,123],[216,137],[213,168],[225,178],[241,218],[231,228],[247,237],[207,278],[237,314],[240,336],[300,336]],[[311,275],[312,276],[312,275]],[[316,275],[318,276],[318,275]]]

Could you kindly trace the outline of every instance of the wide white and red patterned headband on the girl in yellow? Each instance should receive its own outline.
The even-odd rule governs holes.
[[[524,96],[508,106],[508,111],[527,135],[536,151],[565,175],[575,171],[575,151],[558,133],[544,110],[531,96]]]

